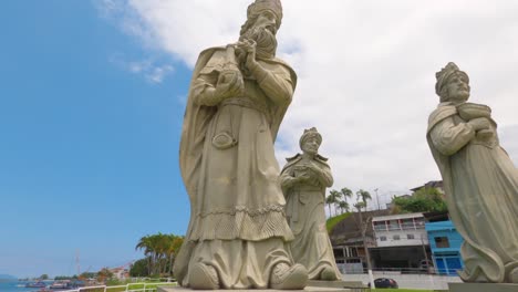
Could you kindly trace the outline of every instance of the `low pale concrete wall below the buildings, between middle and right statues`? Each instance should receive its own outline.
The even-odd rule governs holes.
[[[448,283],[462,283],[458,277],[435,274],[401,274],[395,272],[373,272],[376,278],[394,279],[402,289],[448,290]],[[342,274],[343,281],[362,281],[369,283],[367,274]]]

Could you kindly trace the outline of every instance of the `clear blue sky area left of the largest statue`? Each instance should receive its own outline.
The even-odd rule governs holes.
[[[0,273],[73,274],[77,251],[83,271],[115,267],[142,236],[184,233],[188,69],[90,1],[1,7]],[[128,70],[149,58],[168,65],[160,82]]]

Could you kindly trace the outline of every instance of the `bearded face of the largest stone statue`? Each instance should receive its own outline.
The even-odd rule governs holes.
[[[277,18],[268,10],[262,11],[240,40],[253,40],[259,58],[273,58],[277,51]]]

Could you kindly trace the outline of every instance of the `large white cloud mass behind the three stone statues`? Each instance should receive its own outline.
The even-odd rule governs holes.
[[[120,19],[145,45],[193,66],[203,49],[236,41],[249,2],[130,0]],[[518,2],[282,3],[278,54],[299,84],[281,126],[279,160],[299,150],[303,128],[315,126],[336,188],[379,188],[383,198],[439,179],[425,131],[438,103],[435,72],[449,61],[469,74],[473,101],[518,132]],[[518,145],[517,137],[505,143]],[[508,150],[518,156],[517,147]]]

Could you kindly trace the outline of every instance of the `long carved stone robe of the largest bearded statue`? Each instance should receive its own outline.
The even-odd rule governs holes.
[[[216,85],[225,62],[225,48],[208,49],[193,74],[180,144],[190,221],[174,273],[188,286],[188,267],[203,262],[216,269],[224,289],[267,288],[274,264],[292,264],[273,142],[297,76],[278,59],[258,60],[267,76],[245,77],[242,96],[203,105],[200,93]],[[219,147],[220,135],[232,145]]]

